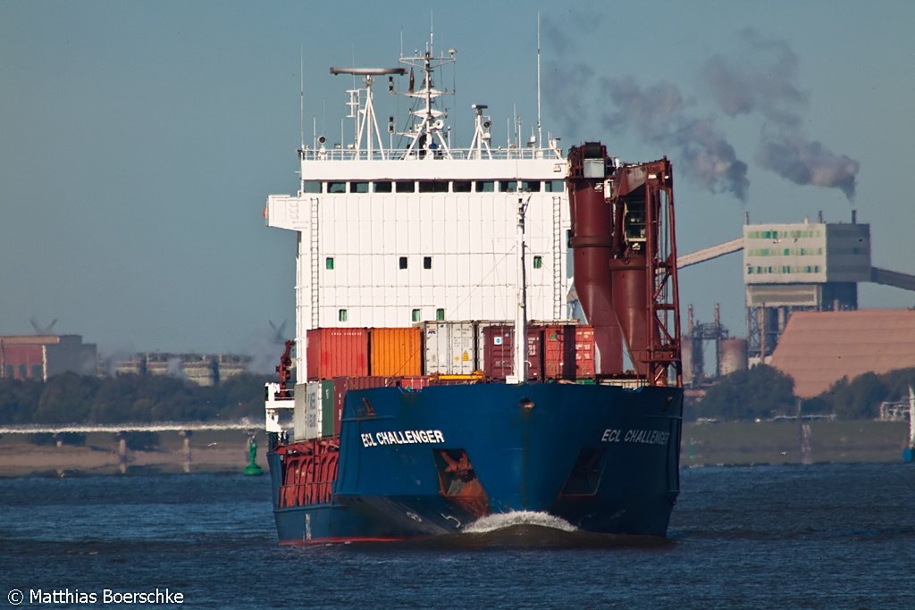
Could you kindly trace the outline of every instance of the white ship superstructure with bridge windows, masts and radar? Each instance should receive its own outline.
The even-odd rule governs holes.
[[[423,76],[406,93],[418,102],[406,145],[383,144],[372,103],[374,80],[404,69],[332,69],[364,80],[349,91],[355,143],[301,150],[299,192],[267,200],[267,224],[298,235],[297,345],[319,326],[513,319],[520,200],[528,315],[567,317],[567,164],[558,144],[494,149],[477,104],[471,146],[452,148],[432,80],[436,62],[448,59],[427,51],[407,60]],[[307,369],[305,358],[297,350],[297,370]]]

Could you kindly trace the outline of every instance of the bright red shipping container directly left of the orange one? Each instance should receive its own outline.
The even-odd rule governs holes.
[[[307,331],[308,380],[369,374],[366,328],[312,328]]]

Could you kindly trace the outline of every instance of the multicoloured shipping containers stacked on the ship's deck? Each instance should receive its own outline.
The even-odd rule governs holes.
[[[307,331],[307,391],[296,394],[296,440],[339,434],[350,390],[499,381],[514,371],[511,322],[436,321],[416,326]],[[530,380],[593,379],[594,329],[576,321],[527,328]]]

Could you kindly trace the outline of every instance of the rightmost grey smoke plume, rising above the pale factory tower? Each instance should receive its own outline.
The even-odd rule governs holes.
[[[759,113],[765,119],[759,165],[795,184],[834,187],[854,198],[858,162],[802,134],[807,99],[795,84],[797,56],[784,41],[765,39],[753,29],[741,35],[744,52],[713,56],[701,70],[718,106],[729,116]]]

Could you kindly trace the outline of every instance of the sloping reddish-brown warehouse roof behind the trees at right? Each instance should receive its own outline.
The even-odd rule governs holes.
[[[770,364],[794,378],[802,398],[843,377],[915,367],[915,311],[795,312]]]

